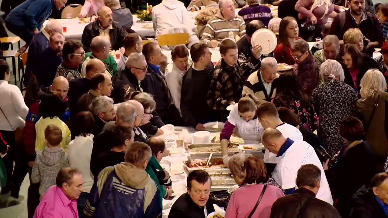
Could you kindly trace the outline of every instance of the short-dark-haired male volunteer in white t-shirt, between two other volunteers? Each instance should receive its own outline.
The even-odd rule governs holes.
[[[260,104],[256,110],[256,116],[264,129],[266,128],[275,128],[279,130],[284,137],[290,138],[291,140],[298,141],[303,140],[302,133],[295,126],[289,125],[288,123],[283,123],[279,118],[277,109],[274,104],[271,102],[265,102]],[[277,164],[279,163],[280,157],[276,157],[275,154],[265,149],[264,162]]]

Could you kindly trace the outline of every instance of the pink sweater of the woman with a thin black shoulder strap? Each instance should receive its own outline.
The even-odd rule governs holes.
[[[263,187],[263,184],[252,184],[236,189],[232,193],[232,197],[230,197],[225,217],[248,217],[259,199]],[[269,218],[271,215],[272,204],[283,196],[284,193],[281,189],[272,185],[267,185],[262,201],[260,201],[252,218]]]

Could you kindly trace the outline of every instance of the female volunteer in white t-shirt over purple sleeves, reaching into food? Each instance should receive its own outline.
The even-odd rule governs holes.
[[[230,159],[227,148],[234,128],[237,128],[237,132],[244,140],[244,144],[260,144],[264,128],[256,117],[256,109],[259,104],[260,101],[256,97],[251,94],[245,94],[230,111],[228,120],[220,135],[224,164],[228,164]]]

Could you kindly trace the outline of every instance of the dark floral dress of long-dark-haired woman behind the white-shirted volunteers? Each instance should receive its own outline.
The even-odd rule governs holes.
[[[284,105],[280,101],[274,99],[274,104],[276,107],[288,107],[292,112],[298,115],[301,126],[305,126],[311,131],[317,129],[319,118],[312,106],[309,106],[300,100],[291,100],[288,105]]]

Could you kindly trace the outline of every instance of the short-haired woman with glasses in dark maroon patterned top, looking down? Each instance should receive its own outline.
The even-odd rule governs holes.
[[[310,96],[319,83],[319,69],[310,52],[310,46],[303,39],[296,40],[291,45],[291,52],[295,59],[293,72],[298,75],[303,92]]]

